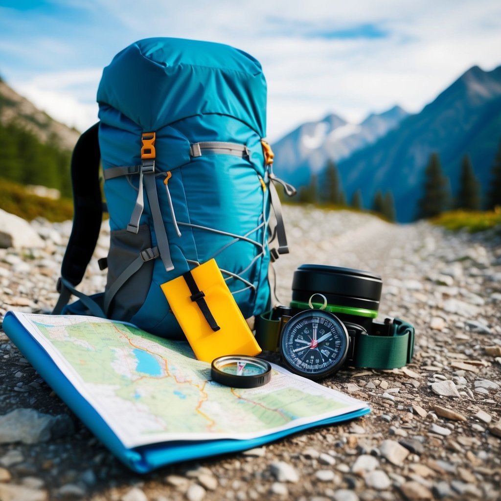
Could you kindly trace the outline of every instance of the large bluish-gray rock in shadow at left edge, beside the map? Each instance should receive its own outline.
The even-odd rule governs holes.
[[[73,422],[67,415],[50,416],[35,409],[15,409],[0,416],[0,443],[46,442],[72,434]]]

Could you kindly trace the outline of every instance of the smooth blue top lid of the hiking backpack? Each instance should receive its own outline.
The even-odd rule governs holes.
[[[97,101],[143,130],[183,118],[229,115],[266,136],[266,80],[260,63],[228,45],[176,38],[136,42],[103,71]]]

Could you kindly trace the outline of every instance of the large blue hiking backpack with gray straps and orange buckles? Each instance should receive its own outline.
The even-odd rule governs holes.
[[[73,152],[74,224],[53,313],[181,337],[160,285],[212,258],[245,318],[266,311],[270,260],[289,251],[263,140],[260,63],[226,45],[141,40],[104,69],[97,101],[100,121]],[[104,293],[87,297],[75,287],[101,226],[100,160],[111,227],[100,267],[108,275]],[[68,305],[71,295],[80,300]]]

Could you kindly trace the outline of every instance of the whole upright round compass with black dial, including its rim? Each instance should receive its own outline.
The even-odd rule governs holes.
[[[310,379],[337,372],[347,351],[346,327],[323,310],[298,313],[285,324],[280,337],[280,352],[288,368]]]

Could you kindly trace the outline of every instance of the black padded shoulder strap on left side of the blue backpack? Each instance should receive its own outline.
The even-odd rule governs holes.
[[[80,136],[71,157],[73,228],[61,266],[63,280],[58,281],[60,297],[52,312],[54,315],[61,313],[74,294],[74,287],[82,281],[101,229],[103,204],[99,186],[98,131],[99,122]]]

